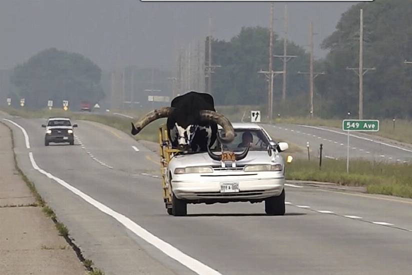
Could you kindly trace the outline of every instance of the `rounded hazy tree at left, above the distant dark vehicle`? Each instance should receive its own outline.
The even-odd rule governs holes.
[[[81,54],[49,48],[17,65],[10,79],[28,108],[43,108],[47,100],[54,106],[69,100],[77,108],[82,100],[103,98],[100,77],[101,69]]]

